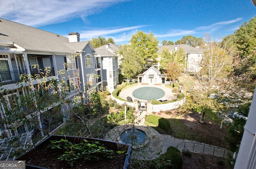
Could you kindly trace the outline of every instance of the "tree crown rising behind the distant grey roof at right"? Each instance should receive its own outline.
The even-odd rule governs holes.
[[[186,44],[192,47],[204,45],[204,39],[202,37],[194,37],[192,35],[183,36],[180,40],[175,42],[175,45]]]

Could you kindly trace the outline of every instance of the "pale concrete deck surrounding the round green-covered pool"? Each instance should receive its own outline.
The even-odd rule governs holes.
[[[142,101],[141,99],[139,98],[135,98],[133,95],[132,95],[132,92],[138,88],[142,88],[142,87],[156,87],[156,88],[160,88],[162,89],[165,94],[163,97],[161,98],[158,98],[157,100],[173,100],[175,99],[176,97],[174,96],[174,93],[172,92],[172,89],[166,87],[164,84],[161,84],[161,85],[153,85],[153,84],[149,84],[149,85],[142,85],[141,83],[138,83],[138,85],[136,86],[132,86],[132,87],[129,87],[129,88],[126,88],[125,90],[121,91],[119,96],[123,99],[127,99],[128,96],[130,96],[132,98],[132,100],[134,99],[138,99],[140,101]]]

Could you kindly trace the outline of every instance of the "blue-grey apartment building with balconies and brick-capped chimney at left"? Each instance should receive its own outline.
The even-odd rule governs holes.
[[[4,118],[6,111],[10,111],[15,102],[19,101],[17,99],[19,96],[30,92],[28,90],[29,85],[32,84],[36,88],[40,86],[38,84],[42,81],[54,80],[58,82],[62,78],[59,74],[60,70],[64,70],[64,81],[66,85],[70,86],[67,95],[69,100],[74,99],[78,88],[85,98],[90,90],[101,88],[102,77],[94,79],[95,74],[102,75],[101,67],[98,67],[101,64],[99,63],[100,60],[94,57],[94,53],[95,49],[90,42],[80,41],[80,34],[77,32],[69,33],[68,37],[64,37],[0,18],[0,95],[4,98],[0,102],[1,117]],[[48,77],[43,79],[46,72]],[[30,77],[28,83],[22,83],[20,79],[22,74],[32,75],[32,77],[39,76],[39,80],[33,80]],[[85,88],[88,83],[90,83],[90,87]],[[42,92],[42,97],[43,95]],[[33,116],[41,128],[49,126],[50,131],[54,130],[65,121],[65,118],[68,118],[70,107],[65,104],[59,106],[59,103],[54,103],[54,105],[58,107],[60,112],[66,113],[66,117],[47,120],[49,117],[47,115],[42,116],[42,112],[53,111],[53,106],[49,106],[40,110],[38,115]],[[26,112],[26,116],[31,116],[33,113],[31,111]],[[12,123],[14,122],[12,121]],[[35,129],[22,119],[16,120],[15,127],[12,129],[6,123],[1,123],[0,127],[1,137],[35,132]],[[44,135],[43,132],[40,134]]]

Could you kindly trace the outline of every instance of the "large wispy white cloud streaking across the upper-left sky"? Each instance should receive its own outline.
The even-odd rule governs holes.
[[[44,26],[84,18],[124,1],[128,0],[9,0],[1,3],[0,17],[28,26]]]

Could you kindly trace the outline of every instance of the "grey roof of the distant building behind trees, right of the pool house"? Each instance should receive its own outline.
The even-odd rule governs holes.
[[[177,47],[177,50],[179,50],[180,47],[182,47],[185,50],[185,53],[204,53],[203,49],[200,49],[198,47],[192,47],[190,45],[162,45],[157,47],[157,53],[161,53],[164,47],[168,48],[169,51],[175,50],[175,47]]]

